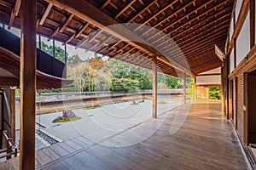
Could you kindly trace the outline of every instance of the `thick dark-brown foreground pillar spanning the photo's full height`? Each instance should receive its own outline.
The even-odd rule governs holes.
[[[20,170],[35,169],[36,3],[21,1]]]

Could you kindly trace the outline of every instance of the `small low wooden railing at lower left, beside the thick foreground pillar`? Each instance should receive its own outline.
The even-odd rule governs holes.
[[[3,140],[6,142],[6,149],[0,150],[0,153],[6,152],[6,154],[0,156],[0,159],[6,157],[6,159],[8,160],[12,158],[12,155],[14,155],[14,157],[18,156],[20,150],[18,150],[16,144],[12,144],[12,139],[8,137],[6,130],[3,131]]]

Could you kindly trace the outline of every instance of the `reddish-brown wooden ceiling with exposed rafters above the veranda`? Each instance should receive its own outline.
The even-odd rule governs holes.
[[[38,0],[38,34],[148,69],[157,55],[164,73],[177,77],[191,71],[195,76],[221,66],[214,45],[224,51],[233,4],[234,0]],[[20,10],[20,0],[0,0],[0,22],[19,28]],[[118,23],[146,25],[124,27],[153,48],[102,29]]]

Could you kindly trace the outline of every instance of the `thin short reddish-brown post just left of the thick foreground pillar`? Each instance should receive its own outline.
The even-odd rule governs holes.
[[[11,138],[15,144],[15,89],[10,89]]]

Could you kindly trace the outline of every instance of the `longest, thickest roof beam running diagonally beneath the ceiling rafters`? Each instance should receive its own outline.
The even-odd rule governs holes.
[[[125,26],[119,25],[116,20],[113,20],[107,14],[104,14],[101,10],[96,8],[95,6],[91,5],[90,3],[78,0],[78,1],[71,1],[71,0],[46,0],[48,3],[54,4],[57,8],[61,8],[66,10],[71,14],[75,14],[82,20],[86,20],[97,26],[99,29],[108,32],[109,34],[113,35],[114,37],[118,37],[121,40],[129,42],[131,45],[135,46],[136,48],[141,49],[143,52],[148,54],[154,54],[156,56],[162,56],[166,59],[167,56],[162,54],[158,49],[149,46],[141,37],[138,37],[132,31],[127,29]],[[111,29],[108,26],[112,26]],[[159,59],[160,57],[158,57]],[[184,68],[182,65],[177,64],[172,59],[168,59],[168,65],[174,67],[178,71],[183,71],[189,74],[192,77],[195,77],[195,74],[189,71],[188,68]]]

